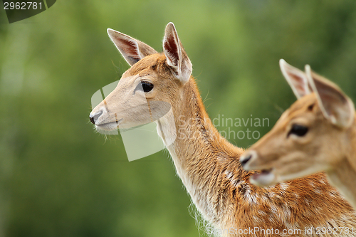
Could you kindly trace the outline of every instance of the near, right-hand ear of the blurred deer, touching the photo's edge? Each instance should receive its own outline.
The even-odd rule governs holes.
[[[310,69],[310,65],[305,65],[305,72],[310,86],[318,98],[324,117],[337,127],[350,127],[355,117],[355,107],[352,100],[330,80],[314,73]]]

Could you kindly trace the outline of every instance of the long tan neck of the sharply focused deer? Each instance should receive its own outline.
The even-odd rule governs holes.
[[[216,194],[219,193],[219,185],[216,183],[221,178],[221,167],[224,166],[224,159],[232,156],[235,156],[237,162],[242,149],[227,142],[216,130],[206,113],[194,80],[191,78],[184,87],[182,95],[178,95],[177,102],[172,104],[174,125],[163,118],[160,126],[164,134],[172,135],[176,132],[176,139],[167,149],[177,174],[204,218],[217,223],[219,211]],[[164,139],[169,140],[169,137]]]

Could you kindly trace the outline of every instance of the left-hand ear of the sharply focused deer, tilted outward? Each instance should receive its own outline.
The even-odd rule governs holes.
[[[108,35],[130,65],[134,65],[145,56],[157,53],[155,49],[141,41],[137,41],[135,38],[125,35],[125,33],[108,28]]]

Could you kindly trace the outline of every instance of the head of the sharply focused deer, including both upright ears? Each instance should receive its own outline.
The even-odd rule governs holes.
[[[174,24],[168,23],[165,29],[163,53],[110,28],[108,35],[131,68],[90,112],[90,121],[97,130],[115,130],[147,124],[165,115],[182,95],[192,73],[192,63]]]

